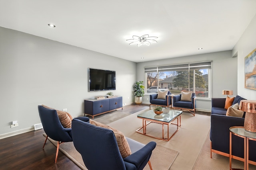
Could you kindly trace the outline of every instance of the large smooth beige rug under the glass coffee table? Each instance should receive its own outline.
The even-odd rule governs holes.
[[[210,116],[196,114],[194,117],[191,113],[182,113],[180,130],[170,141],[162,141],[136,132],[142,126],[142,119],[137,118],[137,115],[142,112],[134,113],[108,125],[118,129],[126,137],[139,141],[140,143],[147,144],[150,141],[155,141],[157,145],[177,150],[179,154],[169,170],[192,170],[210,130]],[[162,126],[160,125],[159,128],[157,127],[158,124],[151,124],[152,127],[147,127],[147,132],[154,135],[159,134],[161,137]],[[174,130],[171,126],[170,131]],[[166,158],[164,160],[166,162],[168,161]],[[155,169],[155,164],[153,163],[152,168]],[[162,170],[168,170],[168,168]]]

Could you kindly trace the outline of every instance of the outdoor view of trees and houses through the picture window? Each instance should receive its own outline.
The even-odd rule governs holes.
[[[169,89],[172,94],[192,91],[198,97],[208,97],[208,69],[190,70],[189,81],[188,70],[158,72],[158,74],[157,72],[148,72],[146,76],[147,93],[157,93],[158,89]]]

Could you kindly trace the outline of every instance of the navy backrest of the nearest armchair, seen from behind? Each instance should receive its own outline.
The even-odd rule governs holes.
[[[112,130],[73,119],[72,137],[89,170],[126,170]]]

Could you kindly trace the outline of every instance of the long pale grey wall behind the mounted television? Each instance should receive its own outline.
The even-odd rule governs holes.
[[[109,92],[88,92],[89,67],[116,70],[112,92],[134,102],[134,62],[3,27],[0,37],[0,137],[40,123],[41,104],[83,115],[84,99]],[[10,128],[12,121],[19,126]]]

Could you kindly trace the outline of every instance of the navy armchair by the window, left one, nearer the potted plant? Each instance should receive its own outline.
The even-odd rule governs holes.
[[[164,106],[164,107],[170,107],[172,105],[172,97],[171,97],[171,93],[170,91],[168,91],[167,95],[165,96],[165,99],[158,99],[157,98],[158,94],[150,94],[150,105],[149,105],[149,109],[151,105],[154,106]]]

